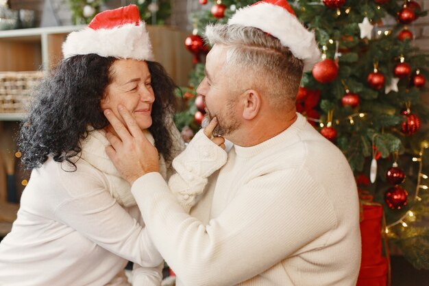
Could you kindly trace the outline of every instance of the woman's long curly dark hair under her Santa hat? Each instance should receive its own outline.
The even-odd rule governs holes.
[[[40,167],[48,156],[76,168],[71,159],[82,151],[79,141],[88,136],[88,127],[99,130],[109,124],[100,102],[113,80],[111,67],[115,60],[95,53],[73,56],[60,62],[42,81],[34,91],[34,100],[19,132],[25,169]],[[149,131],[158,152],[171,160],[173,140],[166,119],[174,111],[177,86],[158,62],[147,64],[155,93]]]

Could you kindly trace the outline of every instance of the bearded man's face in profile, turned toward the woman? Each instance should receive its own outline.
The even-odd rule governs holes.
[[[218,125],[213,134],[219,136],[228,136],[240,127],[238,94],[232,92],[236,88],[230,87],[236,75],[223,71],[226,51],[222,45],[215,45],[210,50],[206,58],[206,76],[197,88],[206,103],[206,116],[201,125],[205,128],[213,117],[217,117]]]

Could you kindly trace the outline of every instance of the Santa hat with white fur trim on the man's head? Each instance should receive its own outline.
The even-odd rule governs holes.
[[[321,60],[314,32],[299,22],[286,0],[263,0],[238,9],[228,25],[256,27],[278,38],[304,62],[304,71],[310,71]]]

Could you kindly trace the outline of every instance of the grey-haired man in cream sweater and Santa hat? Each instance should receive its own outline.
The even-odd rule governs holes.
[[[276,2],[243,8],[228,25],[206,30],[214,46],[197,93],[207,116],[217,119],[213,134],[234,145],[225,165],[208,176],[191,215],[175,202],[158,173],[156,150],[132,117],[119,110],[128,131],[106,112],[120,137],[108,136],[107,152],[132,183],[177,285],[356,285],[360,231],[352,171],[341,151],[295,112],[302,71],[317,62],[319,50],[286,1]],[[188,156],[175,159],[176,169],[188,170],[184,180],[200,180],[208,174],[201,166],[221,160],[210,155],[219,148],[207,137],[211,130],[198,132]]]

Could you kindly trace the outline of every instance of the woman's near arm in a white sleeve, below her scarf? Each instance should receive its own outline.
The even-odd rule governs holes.
[[[106,191],[108,180],[99,171],[79,163],[73,173],[60,172],[60,183],[67,195],[54,209],[59,222],[143,267],[157,267],[162,263],[145,228]]]

